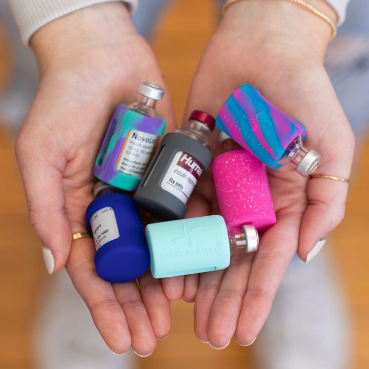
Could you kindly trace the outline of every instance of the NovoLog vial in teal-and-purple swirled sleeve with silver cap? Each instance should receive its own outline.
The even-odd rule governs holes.
[[[165,130],[165,120],[155,109],[164,90],[142,82],[130,105],[118,105],[113,113],[93,173],[116,188],[134,191],[145,173],[156,138]]]

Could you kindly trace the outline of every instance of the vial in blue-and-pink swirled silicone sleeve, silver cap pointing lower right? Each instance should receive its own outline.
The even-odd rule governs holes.
[[[270,168],[290,162],[305,177],[318,167],[320,155],[302,144],[305,127],[251,85],[242,85],[227,99],[216,126]]]

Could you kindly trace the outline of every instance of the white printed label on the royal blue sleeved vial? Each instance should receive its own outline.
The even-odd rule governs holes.
[[[105,207],[93,213],[90,223],[96,251],[107,242],[119,237],[118,224],[114,209],[111,207]]]

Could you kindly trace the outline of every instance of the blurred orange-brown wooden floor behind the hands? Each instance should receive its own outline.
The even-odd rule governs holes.
[[[160,41],[154,48],[172,93],[178,121],[181,120],[196,62],[215,27],[212,4],[210,0],[181,0],[169,9],[169,16],[163,19],[158,30]],[[0,71],[0,76],[3,72]],[[0,130],[0,169],[3,173],[0,181],[0,367],[28,369],[34,368],[30,324],[47,273],[41,244],[28,223],[13,155],[13,139],[4,129]],[[369,368],[368,169],[369,140],[357,156],[346,217],[334,232],[334,241],[331,242],[344,281],[342,288],[353,314],[354,357],[351,369]],[[158,341],[153,355],[139,359],[142,369],[255,367],[252,347],[241,347],[232,341],[226,350],[215,351],[196,339],[192,309],[191,304],[173,304],[172,332],[167,339]]]

